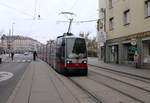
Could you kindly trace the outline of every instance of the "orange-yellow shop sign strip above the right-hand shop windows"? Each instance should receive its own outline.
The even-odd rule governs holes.
[[[137,34],[137,35],[129,35],[126,37],[126,39],[138,39],[138,38],[144,38],[144,37],[150,37],[150,32],[145,32],[145,33]]]

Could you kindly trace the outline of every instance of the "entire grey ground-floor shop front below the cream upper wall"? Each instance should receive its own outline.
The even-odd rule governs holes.
[[[107,40],[106,62],[150,68],[150,31]]]

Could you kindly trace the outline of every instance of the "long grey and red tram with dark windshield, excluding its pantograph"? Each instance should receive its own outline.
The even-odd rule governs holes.
[[[70,73],[87,75],[87,48],[84,38],[59,36],[56,42],[53,41],[47,44],[43,49],[45,50],[40,50],[43,52],[39,52],[40,57],[43,57],[43,60],[49,63],[57,72],[64,75]]]

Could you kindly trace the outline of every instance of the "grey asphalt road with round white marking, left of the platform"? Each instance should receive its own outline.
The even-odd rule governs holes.
[[[31,55],[15,54],[13,61],[9,58],[0,64],[0,103],[6,103],[31,60]]]

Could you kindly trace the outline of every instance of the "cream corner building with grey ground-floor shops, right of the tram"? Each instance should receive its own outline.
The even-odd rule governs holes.
[[[150,0],[106,3],[106,62],[149,67]]]

